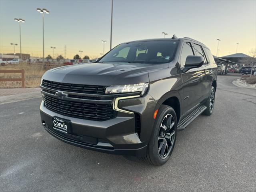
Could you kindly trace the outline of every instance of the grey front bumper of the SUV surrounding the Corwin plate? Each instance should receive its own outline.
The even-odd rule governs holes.
[[[146,154],[154,124],[154,119],[150,117],[153,117],[157,105],[149,95],[120,100],[118,107],[132,111],[134,114],[118,112],[116,118],[95,121],[58,114],[46,108],[42,101],[40,115],[46,131],[63,142],[99,152],[142,157]],[[70,120],[72,129],[70,134],[63,134],[52,128],[54,116]],[[136,130],[138,116],[140,133]]]

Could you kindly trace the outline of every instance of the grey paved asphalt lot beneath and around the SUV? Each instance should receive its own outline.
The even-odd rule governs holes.
[[[256,90],[218,76],[212,116],[179,131],[163,166],[85,150],[41,126],[40,98],[0,105],[1,191],[255,191]]]

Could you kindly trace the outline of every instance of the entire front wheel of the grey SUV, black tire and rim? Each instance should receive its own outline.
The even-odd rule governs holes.
[[[168,125],[167,122],[169,122],[169,126],[165,126]],[[164,129],[164,126],[166,130]],[[153,165],[159,166],[165,164],[169,160],[174,149],[176,136],[176,113],[170,106],[162,105],[156,116],[154,129],[148,143],[146,156],[142,159]]]

